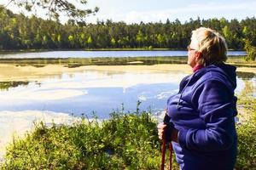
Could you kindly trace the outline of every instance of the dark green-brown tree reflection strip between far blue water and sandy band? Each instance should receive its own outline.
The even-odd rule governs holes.
[[[82,65],[156,65],[156,64],[186,64],[187,57],[155,56],[155,57],[91,57],[91,58],[32,58],[32,59],[0,59],[3,64],[15,64],[20,66],[32,65],[44,67],[48,64],[65,65],[68,68],[76,68]]]

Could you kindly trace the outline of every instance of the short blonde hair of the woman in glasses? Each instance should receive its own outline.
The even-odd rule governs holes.
[[[200,27],[192,31],[191,41],[198,42],[198,52],[201,52],[202,65],[222,63],[227,60],[227,43],[217,31]]]

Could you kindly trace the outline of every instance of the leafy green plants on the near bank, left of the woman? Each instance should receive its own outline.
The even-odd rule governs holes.
[[[46,127],[14,139],[3,169],[158,169],[160,141],[148,112]]]

